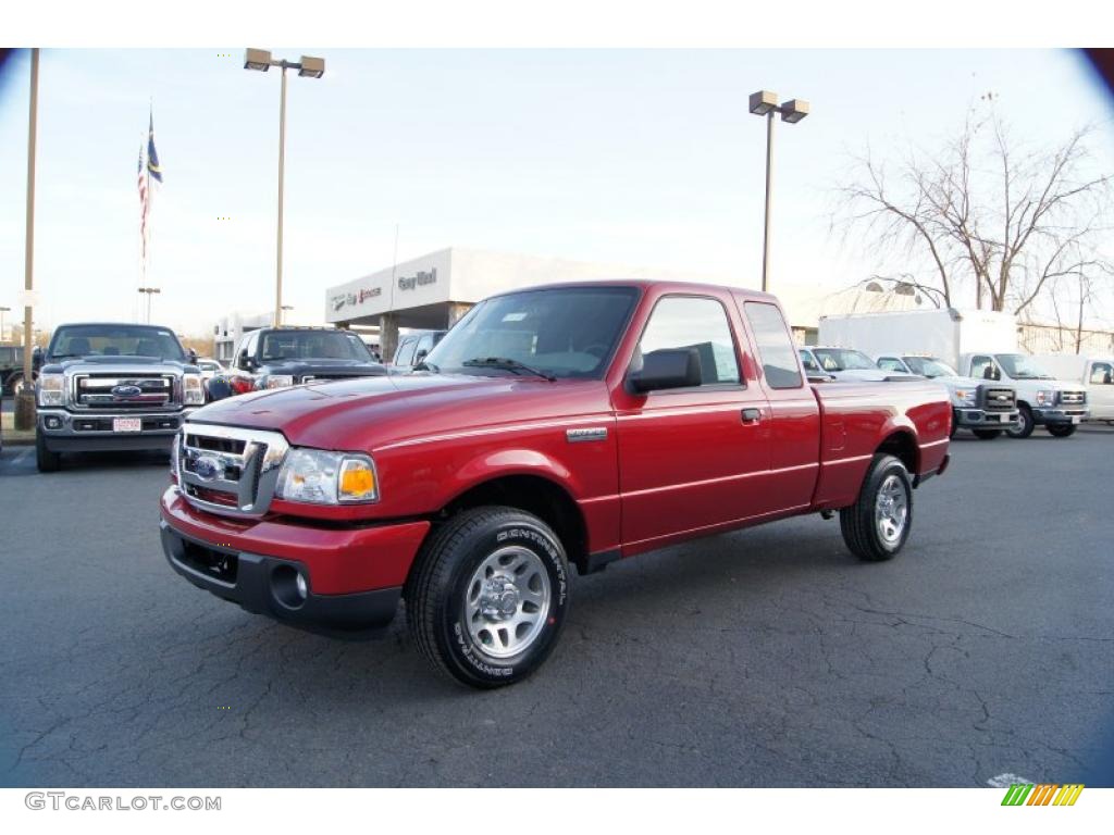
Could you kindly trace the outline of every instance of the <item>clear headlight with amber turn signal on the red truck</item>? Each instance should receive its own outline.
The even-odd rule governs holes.
[[[294,449],[278,471],[275,495],[313,504],[379,501],[375,464],[355,453]]]

